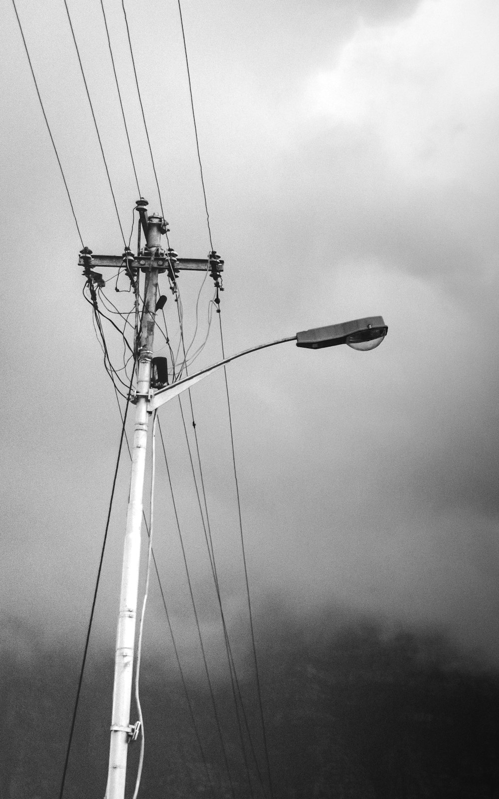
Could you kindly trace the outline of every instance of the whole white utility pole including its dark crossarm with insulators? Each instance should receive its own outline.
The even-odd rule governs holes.
[[[180,269],[209,272],[216,288],[216,304],[220,304],[219,291],[223,291],[221,272],[224,261],[216,252],[208,259],[179,258],[172,248],[161,248],[161,235],[167,233],[167,223],[159,214],[148,216],[148,203],[142,197],[136,210],[140,217],[137,256],[125,248],[123,256],[93,255],[88,248],[80,252],[79,264],[84,267],[93,303],[97,308],[94,286],[104,286],[102,275],[94,268],[123,268],[132,279],[140,280],[145,273],[144,304],[141,323],[136,330],[137,387],[135,427],[133,433],[132,474],[130,478],[129,506],[126,517],[125,547],[121,571],[120,610],[117,623],[116,654],[114,662],[113,714],[111,741],[109,745],[109,770],[105,799],[124,799],[126,763],[130,741],[135,741],[140,732],[140,722],[130,724],[130,704],[133,687],[133,662],[135,650],[135,627],[137,618],[137,594],[141,561],[142,496],[145,477],[145,453],[147,447],[149,415],[152,413],[152,355],[154,327],[156,324],[156,296],[158,274],[167,272],[173,285]],[[140,249],[141,230],[145,234],[146,246]]]

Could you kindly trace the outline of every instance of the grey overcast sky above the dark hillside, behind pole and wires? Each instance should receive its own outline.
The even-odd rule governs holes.
[[[64,5],[17,6],[84,242],[120,254]],[[203,257],[176,2],[126,7],[170,241],[181,256]],[[69,0],[69,9],[129,233],[137,186],[101,6]],[[105,9],[141,192],[155,210],[121,2],[106,0]],[[497,662],[499,6],[186,0],[183,13],[213,244],[225,260],[226,351],[370,314],[390,328],[370,353],[287,344],[228,368],[255,606],[277,595],[297,613],[336,602],[443,626]],[[2,19],[0,590],[7,614],[81,641],[121,423],[10,0]],[[192,330],[200,276],[183,273],[180,285]],[[207,285],[204,332],[211,296]],[[167,313],[174,318],[171,297]],[[219,358],[214,324],[199,365]],[[223,376],[196,387],[192,401],[220,582],[228,615],[244,625]],[[160,418],[202,599],[208,560],[171,406]],[[124,458],[97,604],[96,630],[109,640],[128,470]],[[158,471],[158,562],[176,629],[188,637]],[[160,624],[156,594],[149,630]],[[205,602],[206,630],[216,625],[212,610]]]

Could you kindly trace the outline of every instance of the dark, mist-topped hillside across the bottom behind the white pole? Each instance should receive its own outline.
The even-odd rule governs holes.
[[[367,623],[279,621],[260,636],[260,670],[275,799],[284,797],[499,797],[499,679],[459,661],[442,638],[387,635]],[[28,653],[29,654],[29,653]],[[32,657],[4,650],[1,799],[52,799],[59,793],[77,657],[33,643]],[[89,666],[65,796],[103,797],[111,668]],[[189,682],[206,765],[180,680],[144,662],[146,723],[141,794],[261,797],[266,779],[255,686],[241,685],[255,758],[241,722],[241,756],[230,683],[214,682],[232,789],[208,691]],[[138,745],[130,750],[135,773]],[[212,783],[212,788],[210,787]],[[251,788],[250,788],[251,785]],[[133,785],[129,786],[133,789]],[[131,793],[130,793],[131,795]]]

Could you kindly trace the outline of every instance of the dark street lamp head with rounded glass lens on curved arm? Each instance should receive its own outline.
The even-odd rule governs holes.
[[[303,330],[296,334],[296,346],[321,349],[348,344],[352,349],[366,352],[379,347],[387,332],[382,316],[367,316],[366,319],[330,324],[327,328]]]

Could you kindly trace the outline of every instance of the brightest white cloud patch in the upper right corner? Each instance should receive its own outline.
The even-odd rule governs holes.
[[[479,185],[497,165],[498,23],[489,0],[425,0],[403,22],[360,26],[311,79],[310,113],[377,136],[402,179]]]

